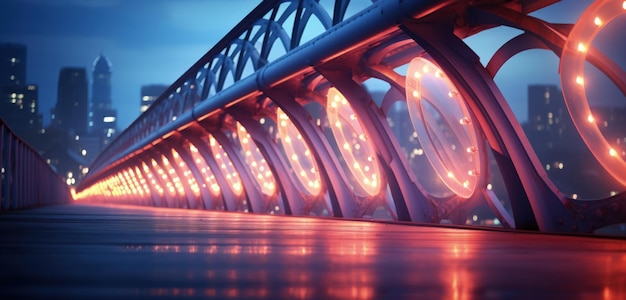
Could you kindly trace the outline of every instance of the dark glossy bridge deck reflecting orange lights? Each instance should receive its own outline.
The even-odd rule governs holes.
[[[130,206],[0,215],[1,299],[130,295],[624,299],[626,241]]]

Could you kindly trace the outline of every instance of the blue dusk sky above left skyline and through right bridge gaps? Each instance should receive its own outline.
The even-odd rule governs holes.
[[[573,23],[591,2],[564,0],[533,15],[551,22]],[[85,67],[91,77],[93,61],[104,54],[112,63],[113,105],[118,110],[118,126],[123,129],[139,115],[142,85],[173,83],[259,3],[1,0],[0,43],[27,46],[27,82],[39,85],[40,113],[45,124],[57,100],[59,70]],[[486,63],[506,39],[517,34],[519,31],[499,28],[466,42]],[[525,121],[526,87],[558,85],[558,59],[548,51],[527,51],[505,65],[496,82],[518,119]]]

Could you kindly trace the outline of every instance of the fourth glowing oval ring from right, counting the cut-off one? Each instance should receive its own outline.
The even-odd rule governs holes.
[[[276,115],[280,142],[301,188],[309,195],[319,195],[322,191],[320,174],[309,146],[287,114],[279,108]]]

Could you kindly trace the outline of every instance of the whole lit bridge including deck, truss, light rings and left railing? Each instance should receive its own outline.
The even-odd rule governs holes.
[[[381,0],[359,9],[355,2],[263,1],[105,149],[75,190],[62,181],[34,187],[28,176],[43,176],[37,168],[45,167],[2,131],[3,210],[48,204],[43,198],[68,203],[70,192],[74,200],[0,216],[7,245],[77,251],[97,270],[107,261],[128,264],[85,274],[82,266],[46,263],[57,271],[42,273],[33,255],[5,248],[3,257],[27,266],[0,276],[15,283],[9,295],[24,292],[30,285],[22,275],[30,274],[45,286],[33,296],[66,295],[67,282],[85,282],[89,295],[100,289],[103,297],[137,294],[133,283],[149,285],[143,296],[623,297],[623,239],[589,234],[626,223],[626,139],[605,129],[588,70],[603,74],[623,102],[623,65],[595,39],[626,15],[626,2],[595,1],[573,24],[533,16],[553,0]],[[469,45],[503,27],[518,34],[489,57]],[[540,160],[495,80],[527,50],[558,59],[584,159],[615,188],[587,199],[564,189]],[[42,197],[48,189],[56,192]],[[59,220],[85,228],[54,225]],[[46,230],[37,224],[68,237],[104,233],[75,243],[84,248],[94,238],[106,260],[69,239],[41,242]],[[203,233],[216,237],[200,241]],[[197,253],[232,264],[194,265]],[[519,260],[524,254],[528,262]],[[171,263],[148,266],[150,255]],[[339,265],[334,280],[329,262]],[[150,277],[163,269],[172,273]],[[248,278],[241,270],[259,273]],[[43,284],[52,274],[65,285]]]

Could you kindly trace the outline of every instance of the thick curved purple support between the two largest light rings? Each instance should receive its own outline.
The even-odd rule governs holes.
[[[448,29],[417,23],[404,26],[468,100],[506,177],[516,228],[557,230],[550,219],[554,209],[563,210],[564,199],[537,173],[538,159],[477,55]]]

